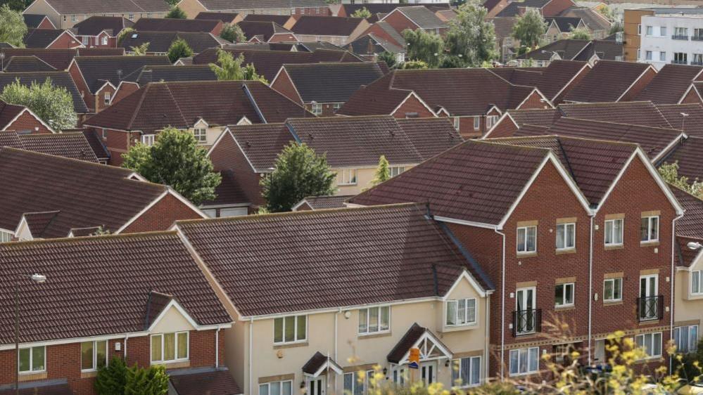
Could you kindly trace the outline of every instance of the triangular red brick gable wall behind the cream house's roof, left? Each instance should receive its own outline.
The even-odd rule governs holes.
[[[141,214],[122,233],[165,231],[179,219],[202,218],[194,209],[178,200],[174,195],[165,195],[161,200]]]

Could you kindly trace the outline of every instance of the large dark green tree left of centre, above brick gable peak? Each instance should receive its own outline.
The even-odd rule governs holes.
[[[193,134],[173,127],[163,129],[151,147],[137,143],[122,158],[122,167],[151,182],[171,186],[195,205],[215,199],[215,188],[222,181]]]

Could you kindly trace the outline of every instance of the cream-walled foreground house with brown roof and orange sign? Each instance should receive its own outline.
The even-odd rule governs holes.
[[[289,231],[271,242],[281,227]],[[486,382],[493,284],[422,205],[179,221],[175,229],[236,312],[221,335],[245,394],[362,394],[369,372],[403,384],[412,347],[422,350],[417,377],[426,384]]]

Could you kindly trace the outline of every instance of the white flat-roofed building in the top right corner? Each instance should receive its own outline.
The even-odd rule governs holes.
[[[666,63],[703,66],[703,10],[642,16],[638,60],[661,69]]]

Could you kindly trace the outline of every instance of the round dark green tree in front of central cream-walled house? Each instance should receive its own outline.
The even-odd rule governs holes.
[[[305,144],[291,143],[279,153],[274,171],[261,180],[270,212],[288,212],[306,196],[334,193],[336,174],[325,155]]]

